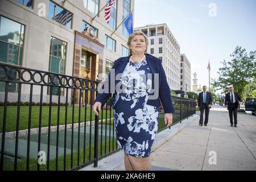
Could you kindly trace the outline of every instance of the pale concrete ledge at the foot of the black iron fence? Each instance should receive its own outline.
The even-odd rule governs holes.
[[[151,152],[154,152],[157,148],[162,146],[162,144],[168,142],[168,140],[178,134],[188,125],[189,122],[193,121],[197,117],[199,117],[199,115],[195,114],[188,119],[184,119],[181,123],[176,123],[171,127],[171,130],[166,129],[156,134]],[[93,164],[90,164],[89,166],[79,169],[79,171],[125,171],[125,163],[123,159],[123,151],[119,151],[107,158],[99,160],[98,167],[94,168]]]

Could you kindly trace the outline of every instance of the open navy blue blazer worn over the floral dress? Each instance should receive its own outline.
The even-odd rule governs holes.
[[[131,56],[131,55],[130,55]],[[114,65],[112,69],[115,69],[115,76],[118,73],[122,73],[125,70],[125,67],[127,63],[129,62],[130,56],[127,57],[120,57],[119,59],[114,61]],[[164,113],[174,113],[174,106],[172,104],[172,99],[171,99],[171,93],[170,93],[170,87],[167,83],[166,79],[166,73],[164,72],[163,65],[160,61],[159,58],[154,57],[150,54],[146,53],[146,60],[148,67],[150,68],[150,71],[152,73],[152,88],[154,89],[154,73],[159,73],[159,94],[158,98],[155,100],[150,100],[148,99],[147,104],[151,106],[160,106],[160,100],[163,104],[164,107]],[[109,88],[110,88],[110,74],[108,75],[108,78],[106,80],[109,81]],[[115,79],[115,78],[113,78]],[[119,81],[115,80],[115,85],[117,85]],[[104,88],[104,86],[102,87]],[[108,93],[98,93],[95,102],[101,102],[102,105],[105,105],[106,101],[108,101],[110,97],[111,92]],[[153,95],[154,93],[148,93],[149,95]],[[110,106],[112,106],[114,101],[114,97],[112,98],[112,101],[110,102]]]

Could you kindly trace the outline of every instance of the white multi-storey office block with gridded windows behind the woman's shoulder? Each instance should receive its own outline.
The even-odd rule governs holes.
[[[171,90],[180,90],[180,46],[167,24],[151,24],[134,28],[148,37],[147,53],[159,57]]]

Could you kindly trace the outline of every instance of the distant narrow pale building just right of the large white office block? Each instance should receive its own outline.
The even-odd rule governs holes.
[[[180,90],[191,92],[191,64],[186,55],[180,55]]]

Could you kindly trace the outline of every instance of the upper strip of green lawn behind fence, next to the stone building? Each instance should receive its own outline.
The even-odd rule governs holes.
[[[40,106],[32,106],[31,110],[31,128],[39,127],[39,109]],[[57,126],[57,106],[52,106],[51,109],[51,126]],[[28,114],[29,106],[20,106],[20,118],[19,118],[19,130],[28,129]],[[68,106],[67,110],[67,124],[72,123],[73,107]],[[90,107],[86,109],[86,121],[90,121]],[[108,118],[110,118],[110,110],[107,112]],[[3,106],[0,106],[0,133],[3,129]],[[75,106],[74,111],[74,123],[79,122],[79,107]],[[103,118],[106,117],[106,110],[103,111]],[[113,118],[113,110],[111,113]],[[16,118],[17,118],[17,106],[7,106],[7,119],[6,119],[6,132],[16,130]],[[95,119],[95,114],[92,111],[92,121]],[[101,111],[100,111],[101,119]],[[85,107],[81,107],[80,122],[85,120]],[[49,106],[42,107],[42,127],[47,127],[49,122]],[[65,106],[60,106],[60,125],[65,125]],[[113,119],[112,119],[113,122]]]

